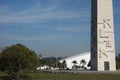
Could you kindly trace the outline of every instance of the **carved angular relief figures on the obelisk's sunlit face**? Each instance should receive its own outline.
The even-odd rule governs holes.
[[[99,45],[101,46],[99,48],[99,58],[107,58],[108,54],[110,52],[113,52],[112,50],[112,41],[111,41],[111,35],[113,34],[113,29],[110,24],[110,19],[103,19],[102,22],[99,22]]]

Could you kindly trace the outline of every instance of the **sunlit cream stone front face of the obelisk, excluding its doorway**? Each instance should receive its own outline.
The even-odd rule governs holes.
[[[109,62],[109,70],[116,70],[113,6],[112,0],[97,0],[97,70],[104,71],[104,62]],[[94,10],[93,10],[94,11]],[[93,63],[92,63],[93,64]]]

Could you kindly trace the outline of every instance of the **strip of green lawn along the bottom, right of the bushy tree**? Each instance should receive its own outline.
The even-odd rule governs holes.
[[[34,80],[120,80],[120,74],[31,73]]]

